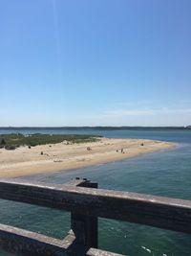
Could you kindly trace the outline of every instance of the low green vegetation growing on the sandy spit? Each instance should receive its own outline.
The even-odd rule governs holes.
[[[68,144],[96,142],[100,136],[96,135],[61,135],[61,134],[30,134],[21,133],[0,135],[0,148],[14,150],[20,146],[34,147],[44,144],[55,144],[65,141]]]

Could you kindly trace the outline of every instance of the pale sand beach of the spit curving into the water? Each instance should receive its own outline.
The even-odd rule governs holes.
[[[144,146],[140,146],[141,143]],[[87,151],[87,147],[92,150]],[[175,144],[161,141],[101,138],[97,142],[73,145],[58,143],[52,144],[51,147],[50,145],[36,146],[32,149],[20,147],[15,151],[0,149],[0,177],[36,175],[82,168],[173,147]],[[124,153],[121,153],[121,149]]]

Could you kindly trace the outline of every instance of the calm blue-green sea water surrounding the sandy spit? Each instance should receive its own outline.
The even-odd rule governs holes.
[[[98,182],[100,188],[191,199],[191,130],[179,129],[0,129],[0,133],[99,134],[115,138],[146,138],[178,143],[176,149],[149,153],[104,165],[31,180],[64,183],[75,176]],[[70,216],[58,210],[0,200],[0,222],[63,238]],[[191,255],[191,235],[122,221],[99,219],[99,248],[129,256]],[[12,255],[0,251],[0,256]]]

